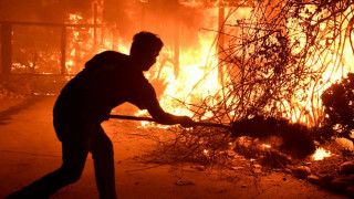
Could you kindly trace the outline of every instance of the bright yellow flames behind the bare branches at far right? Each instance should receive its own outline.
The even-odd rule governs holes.
[[[314,8],[309,7],[309,10],[313,10],[313,9]],[[317,20],[319,15],[314,15],[314,18]],[[313,20],[312,23],[315,23],[316,20]],[[299,21],[296,21],[295,23],[299,23]],[[343,27],[346,27],[348,21],[344,21],[343,23],[344,23]],[[289,22],[288,25],[292,27],[293,24]],[[329,24],[322,23],[320,25],[320,31],[327,32],[327,29],[330,25],[329,27],[326,25]],[[296,30],[294,30],[294,32]],[[302,33],[301,35],[294,34],[292,39],[296,36],[300,41],[300,45],[299,48],[293,49],[292,52],[294,54],[296,54],[296,52],[299,52],[305,44],[304,33]],[[293,100],[293,102],[296,104],[295,106],[298,106],[298,108],[293,108],[292,111],[290,111],[292,112],[291,118],[293,122],[302,122],[304,124],[308,124],[309,126],[315,126],[316,125],[315,121],[319,117],[323,116],[322,102],[320,101],[322,93],[327,87],[330,87],[332,83],[341,80],[348,72],[353,71],[352,65],[353,65],[354,56],[353,56],[353,53],[347,53],[352,51],[348,36],[340,35],[335,40],[337,41],[337,43],[342,43],[341,41],[343,40],[344,41],[343,46],[340,46],[339,44],[337,45],[332,44],[330,48],[331,52],[329,52],[330,55],[326,53],[323,53],[325,55],[316,54],[313,56],[313,59],[309,63],[306,63],[308,65],[312,65],[313,69],[320,70],[320,69],[323,69],[323,66],[326,64],[327,64],[327,67],[326,67],[326,71],[323,71],[322,78],[311,84],[312,90],[301,91],[306,93],[306,95],[309,96],[306,101],[301,102],[296,98]],[[336,49],[342,49],[342,53],[343,52],[344,53],[337,54],[337,52],[335,52]]]

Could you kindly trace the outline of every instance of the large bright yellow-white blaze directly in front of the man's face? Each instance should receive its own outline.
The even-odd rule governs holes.
[[[200,33],[200,48],[191,48],[181,53],[178,76],[174,75],[171,67],[163,71],[164,78],[168,84],[160,97],[160,104],[167,112],[192,116],[188,108],[178,106],[174,98],[185,101],[185,103],[196,103],[198,100],[215,94],[220,88],[216,57],[211,57],[214,63],[207,63],[206,60],[210,53],[209,45],[214,38],[212,34]]]

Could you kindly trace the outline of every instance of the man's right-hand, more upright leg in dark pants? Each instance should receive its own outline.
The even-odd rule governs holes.
[[[115,190],[115,174],[113,145],[111,139],[97,125],[97,133],[92,139],[91,154],[94,160],[96,184],[101,199],[117,198]]]

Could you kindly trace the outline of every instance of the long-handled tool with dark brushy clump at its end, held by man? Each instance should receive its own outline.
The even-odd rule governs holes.
[[[150,117],[135,117],[125,115],[111,115],[111,118],[149,121]],[[195,126],[226,128],[231,133],[231,137],[248,136],[253,138],[278,137],[282,140],[280,150],[293,158],[305,158],[315,151],[315,145],[310,134],[310,129],[299,123],[291,124],[288,119],[274,117],[256,116],[250,119],[241,119],[230,125],[195,122]]]

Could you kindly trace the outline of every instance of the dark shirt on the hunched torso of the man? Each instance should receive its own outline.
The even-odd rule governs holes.
[[[125,102],[140,109],[159,106],[152,84],[129,56],[105,51],[90,60],[62,90],[54,119],[101,123],[112,108]]]

